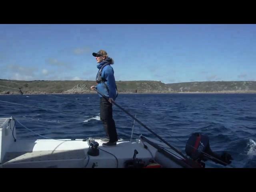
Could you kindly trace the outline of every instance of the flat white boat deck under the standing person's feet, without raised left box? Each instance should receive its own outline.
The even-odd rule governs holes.
[[[82,140],[17,140],[10,146],[2,162],[3,168],[118,168],[124,167],[126,160],[131,160],[134,150],[138,151],[136,158],[148,161],[156,153],[156,149],[148,145],[146,150],[141,141],[130,142],[118,140],[114,147],[103,147],[98,142],[99,156],[89,156],[88,143]],[[113,154],[118,159],[109,154]]]

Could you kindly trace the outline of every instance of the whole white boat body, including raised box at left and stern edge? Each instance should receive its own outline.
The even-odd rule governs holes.
[[[141,159],[145,164],[149,164],[149,160],[154,159],[162,167],[186,167],[186,164],[184,166],[179,163],[184,160],[180,154],[166,144],[146,137],[134,142],[118,140],[114,147],[103,147],[103,141],[94,139],[99,144],[98,148],[102,150],[99,151],[98,156],[89,156],[87,154],[89,143],[82,139],[16,140],[15,142],[14,120],[0,118],[0,122],[2,122],[0,124],[0,167],[2,168],[124,168],[125,162],[132,160],[134,150],[138,151],[136,158]],[[144,144],[148,149],[144,148]],[[168,153],[171,159],[168,155],[158,152],[157,147]]]

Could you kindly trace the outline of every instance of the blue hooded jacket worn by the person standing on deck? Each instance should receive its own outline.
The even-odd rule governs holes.
[[[97,65],[97,68],[100,70],[100,68],[106,64],[109,63],[109,65],[104,66],[104,68],[102,69],[102,73],[101,73],[101,78],[102,80],[105,81],[106,85],[108,86],[108,90],[106,88],[106,86],[104,85],[104,83],[99,83],[96,86],[96,89],[104,94],[105,96],[107,96],[108,98],[113,98],[114,100],[116,99],[116,80],[114,77],[114,70],[113,68],[110,66],[110,64],[114,64],[112,61],[112,58],[106,58],[106,60],[102,61],[101,63],[99,63]],[[97,77],[96,77],[97,78]],[[102,97],[99,94],[100,97]]]

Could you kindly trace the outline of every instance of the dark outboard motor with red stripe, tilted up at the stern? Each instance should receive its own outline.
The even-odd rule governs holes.
[[[212,160],[215,163],[224,166],[231,163],[232,156],[227,152],[222,152],[221,155],[212,152],[210,148],[209,138],[200,133],[193,133],[186,143],[186,154],[193,160],[200,161]]]

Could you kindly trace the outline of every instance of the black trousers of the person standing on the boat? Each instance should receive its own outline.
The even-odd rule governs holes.
[[[104,97],[100,98],[100,120],[103,123],[109,142],[116,142],[118,138],[116,124],[113,119],[112,103],[108,102]]]

